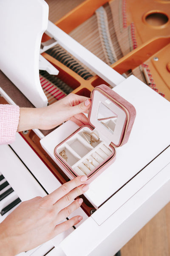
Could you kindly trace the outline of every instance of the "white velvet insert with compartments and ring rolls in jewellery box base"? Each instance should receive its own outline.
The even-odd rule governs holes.
[[[93,173],[97,166],[110,156],[113,151],[109,149],[105,142],[98,140],[93,146],[88,143],[82,132],[86,133],[88,141],[91,141],[91,130],[88,127],[80,129],[72,137],[66,140],[57,148],[57,153],[65,150],[68,157],[67,163],[72,167],[77,175],[89,175]],[[87,135],[89,134],[89,136]]]

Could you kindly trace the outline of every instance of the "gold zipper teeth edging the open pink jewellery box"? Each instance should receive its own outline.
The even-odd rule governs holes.
[[[126,115],[127,115],[127,122],[126,122],[126,126],[125,126],[124,136],[123,136],[123,139],[122,139],[121,144],[119,145],[119,146],[121,146],[122,143],[123,143],[123,141],[125,140],[125,135],[126,135],[126,131],[127,131],[127,126],[128,126],[128,124],[129,124],[129,119],[130,119],[129,111],[128,111],[121,103],[119,103],[118,101],[116,101],[115,99],[113,99],[110,95],[108,95],[108,93],[105,93],[105,92],[104,92],[103,90],[101,90],[100,88],[94,88],[94,90],[99,90],[101,93],[103,93],[103,94],[104,94],[105,96],[107,96],[109,99],[111,99],[113,102],[115,102],[115,103],[116,103],[117,105],[119,105],[121,108],[123,108],[124,111],[125,111],[125,113],[126,113]],[[92,93],[92,92],[91,92],[91,93]],[[88,111],[88,116],[89,116],[89,111]],[[84,126],[89,126],[89,127],[93,128],[91,125],[82,125],[81,127],[84,127]],[[77,128],[77,130],[79,130],[79,128]],[[76,131],[77,131],[77,130],[76,130]],[[75,133],[76,131],[74,131],[74,133]],[[74,133],[72,133],[72,134],[74,134]],[[71,134],[71,135],[72,135],[72,134]],[[63,141],[64,141],[64,140],[63,140]],[[61,143],[63,143],[63,141],[62,141]],[[60,145],[61,143],[59,143],[59,145]],[[57,156],[57,154],[55,153],[55,149],[56,149],[59,145],[57,145],[57,146],[54,148],[54,155],[55,155],[55,157],[57,157],[57,158],[62,162],[62,164],[68,169],[69,172],[71,172],[71,174],[72,174],[74,177],[77,177],[77,176],[71,171],[71,169],[70,169],[70,168]],[[111,143],[111,145],[112,145],[112,147],[114,148],[114,154],[113,154],[113,156],[112,156],[106,163],[102,164],[102,166],[100,166],[98,169],[96,169],[96,171],[94,171],[91,175],[89,175],[88,178],[91,178],[93,175],[95,175],[96,172],[98,172],[103,166],[105,166],[108,162],[110,162],[110,161],[115,157],[115,155],[116,155],[116,150],[115,150],[115,147],[114,147],[113,143]]]

